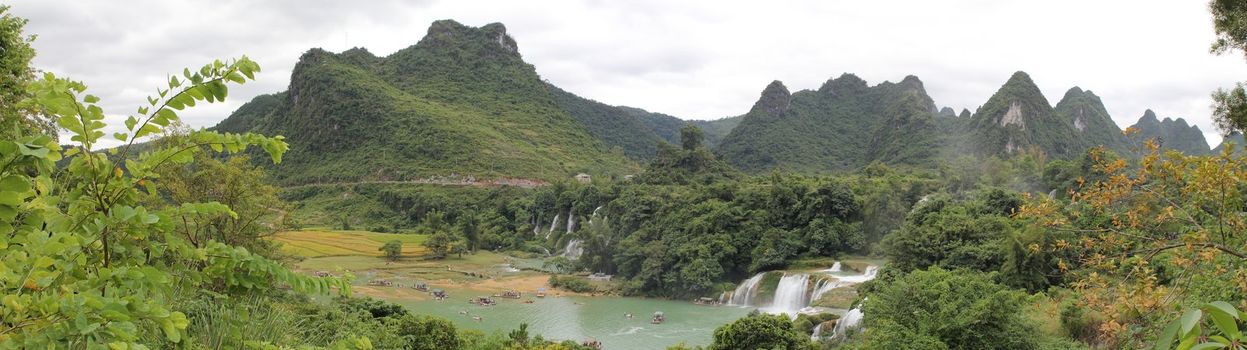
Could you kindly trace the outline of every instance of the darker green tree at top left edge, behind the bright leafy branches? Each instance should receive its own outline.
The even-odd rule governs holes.
[[[30,60],[35,49],[34,35],[22,34],[26,20],[7,14],[9,6],[0,5],[0,137],[16,138],[35,133],[55,138],[56,126],[50,116],[34,103],[19,103],[30,97],[29,85],[35,81],[35,69]]]

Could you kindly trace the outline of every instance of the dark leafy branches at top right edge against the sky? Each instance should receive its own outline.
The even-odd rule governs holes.
[[[1247,56],[1247,4],[1237,0],[1212,0],[1208,9],[1212,11],[1212,26],[1217,34],[1212,41],[1212,52],[1226,55],[1237,50]],[[1231,90],[1218,88],[1212,92],[1212,117],[1217,122],[1217,128],[1225,135],[1247,131],[1247,91],[1243,87],[1245,83],[1238,82]]]

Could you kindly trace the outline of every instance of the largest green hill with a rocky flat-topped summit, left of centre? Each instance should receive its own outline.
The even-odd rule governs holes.
[[[283,184],[637,169],[564,110],[501,24],[436,21],[387,57],[308,50],[288,91],[256,97],[216,128],[286,136],[291,151],[272,172]]]

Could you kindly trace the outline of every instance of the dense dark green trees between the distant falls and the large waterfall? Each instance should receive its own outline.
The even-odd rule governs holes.
[[[624,186],[590,229],[580,262],[630,293],[696,296],[804,255],[865,248],[848,183],[772,176],[711,186]],[[595,222],[596,223],[596,222]]]

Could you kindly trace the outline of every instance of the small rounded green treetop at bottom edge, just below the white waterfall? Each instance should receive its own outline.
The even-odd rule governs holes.
[[[809,335],[797,331],[786,316],[757,311],[715,329],[711,350],[728,349],[816,349]]]

